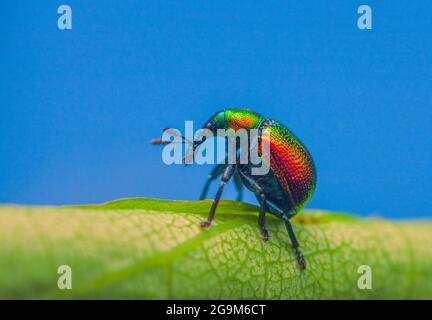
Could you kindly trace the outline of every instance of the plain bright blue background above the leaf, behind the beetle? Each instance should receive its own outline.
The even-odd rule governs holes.
[[[210,167],[149,139],[248,107],[314,156],[308,207],[432,216],[432,2],[366,3],[1,1],[0,202],[196,199]]]

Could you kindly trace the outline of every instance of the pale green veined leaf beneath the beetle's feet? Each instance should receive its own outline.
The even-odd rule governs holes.
[[[305,210],[293,219],[307,269],[282,221],[221,201],[126,199],[74,207],[0,207],[0,298],[432,298],[432,222]],[[72,268],[59,290],[57,269]],[[369,265],[372,289],[358,268]]]

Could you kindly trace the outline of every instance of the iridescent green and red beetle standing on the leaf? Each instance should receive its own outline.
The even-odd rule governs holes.
[[[234,163],[219,164],[210,173],[200,195],[200,200],[207,195],[210,182],[222,175],[222,181],[216,193],[216,197],[210,209],[207,221],[201,223],[202,227],[209,227],[214,219],[216,207],[222,195],[225,184],[234,176],[234,182],[239,191],[239,199],[242,195],[242,185],[252,191],[260,203],[258,225],[264,240],[269,239],[265,226],[265,214],[270,212],[285,222],[291,243],[297,254],[298,263],[302,269],[306,268],[303,254],[294,234],[289,219],[293,217],[312,196],[316,185],[316,170],[313,159],[306,147],[283,124],[262,117],[261,115],[246,109],[225,109],[213,115],[203,128],[213,134],[217,129],[241,128],[246,130],[258,129],[269,133],[267,143],[270,144],[270,170],[265,175],[253,175],[252,165]],[[183,142],[187,142],[184,137]],[[263,137],[259,136],[259,144],[263,143]],[[193,149],[202,143],[193,143]],[[152,144],[167,144],[169,141],[153,139]],[[258,152],[262,150],[258,148]],[[264,161],[264,160],[263,160]]]

